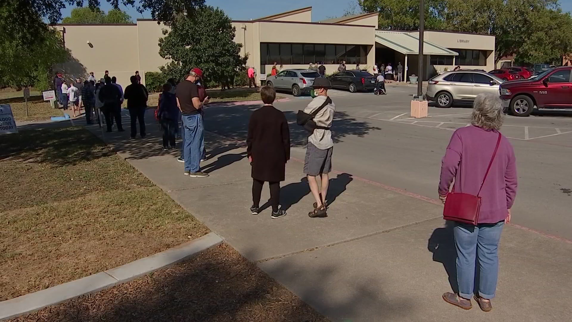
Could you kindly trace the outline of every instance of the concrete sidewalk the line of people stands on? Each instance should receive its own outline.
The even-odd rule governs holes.
[[[148,113],[149,114],[149,113]],[[492,312],[441,299],[454,281],[451,230],[442,206],[333,175],[328,218],[309,218],[313,198],[291,161],[282,183],[288,215],[251,215],[250,166],[241,142],[207,133],[208,178],[182,174],[177,152],[161,151],[156,124],[146,139],[90,127],[129,163],[249,260],[332,321],[569,321],[572,244],[506,226]],[[334,157],[335,162],[335,157]],[[334,163],[335,167],[335,163]],[[268,199],[267,188],[263,201]]]

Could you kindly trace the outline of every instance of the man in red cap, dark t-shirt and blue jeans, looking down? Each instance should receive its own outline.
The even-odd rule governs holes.
[[[200,171],[200,160],[204,140],[201,109],[209,103],[206,96],[201,102],[198,96],[198,86],[195,82],[202,76],[202,70],[193,68],[185,79],[177,85],[177,105],[182,113],[184,126],[184,162],[185,175],[191,178],[204,178],[208,174]]]

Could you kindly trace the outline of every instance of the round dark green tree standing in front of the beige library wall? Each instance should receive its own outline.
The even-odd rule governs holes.
[[[170,62],[160,70],[166,78],[182,79],[193,67],[202,69],[205,81],[224,83],[244,66],[241,44],[234,41],[236,29],[219,8],[201,6],[193,18],[180,14],[171,30],[159,40],[159,54]]]

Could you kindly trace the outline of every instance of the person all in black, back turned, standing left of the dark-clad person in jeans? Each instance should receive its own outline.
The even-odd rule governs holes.
[[[145,139],[145,111],[149,93],[143,84],[138,83],[137,76],[131,76],[129,80],[131,84],[125,88],[124,99],[127,100],[127,109],[131,117],[131,138],[137,136],[137,120],[139,120],[139,134]]]

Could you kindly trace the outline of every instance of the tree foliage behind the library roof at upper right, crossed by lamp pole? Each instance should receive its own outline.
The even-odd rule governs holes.
[[[379,12],[379,28],[419,29],[419,0],[359,0]],[[557,0],[427,0],[425,27],[494,34],[495,61],[515,55],[518,64],[558,62],[572,52],[572,18]]]

